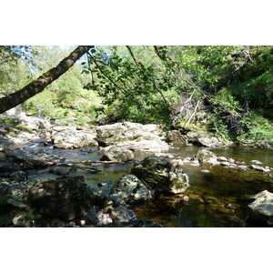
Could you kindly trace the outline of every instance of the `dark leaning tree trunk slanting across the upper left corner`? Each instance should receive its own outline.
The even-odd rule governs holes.
[[[28,98],[42,92],[46,86],[50,85],[59,76],[62,76],[66,71],[73,66],[76,61],[83,56],[94,45],[79,45],[69,55],[66,56],[56,67],[51,68],[42,76],[39,76],[33,82],[23,87],[21,90],[13,94],[0,98],[0,114],[18,106],[25,102]]]

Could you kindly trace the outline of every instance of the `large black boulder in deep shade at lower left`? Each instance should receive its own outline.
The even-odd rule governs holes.
[[[82,217],[95,203],[84,177],[38,181],[29,189],[28,200],[43,216],[67,221]]]

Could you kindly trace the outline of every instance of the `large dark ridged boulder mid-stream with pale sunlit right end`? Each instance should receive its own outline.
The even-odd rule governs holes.
[[[174,167],[161,157],[146,157],[134,165],[131,173],[157,192],[179,194],[189,187],[187,174],[182,168]]]

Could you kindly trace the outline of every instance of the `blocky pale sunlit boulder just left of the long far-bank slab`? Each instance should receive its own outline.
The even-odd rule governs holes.
[[[55,147],[70,149],[77,147],[98,146],[95,130],[75,127],[55,126],[52,131]]]

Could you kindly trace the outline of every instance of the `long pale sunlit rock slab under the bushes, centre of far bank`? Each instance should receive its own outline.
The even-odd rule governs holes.
[[[120,141],[161,140],[162,130],[157,125],[123,122],[97,126],[98,141],[106,146]]]

